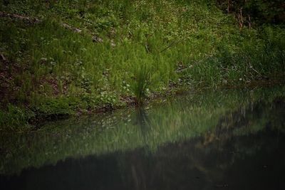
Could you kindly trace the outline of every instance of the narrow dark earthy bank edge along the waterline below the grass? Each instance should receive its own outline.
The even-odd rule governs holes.
[[[283,80],[282,80],[283,79]],[[1,132],[30,132],[41,129],[43,125],[46,125],[46,123],[55,121],[55,120],[66,120],[70,117],[84,117],[88,115],[105,115],[108,113],[112,113],[115,110],[123,110],[127,107],[147,107],[148,105],[153,104],[162,104],[163,102],[166,102],[168,99],[171,99],[173,97],[177,97],[180,95],[185,94],[191,94],[191,95],[199,95],[202,93],[206,93],[208,90],[217,91],[217,90],[244,90],[244,89],[255,89],[255,88],[268,88],[271,86],[280,85],[283,86],[285,84],[284,78],[275,78],[275,80],[256,80],[252,83],[245,83],[245,84],[239,84],[239,85],[232,85],[232,86],[220,86],[219,88],[216,88],[215,90],[212,88],[196,88],[196,89],[189,89],[185,87],[180,88],[172,88],[171,90],[165,90],[165,92],[162,93],[152,93],[149,95],[146,99],[143,105],[138,105],[138,103],[135,101],[135,97],[123,97],[120,98],[120,102],[118,102],[117,105],[102,105],[100,107],[93,107],[93,109],[86,109],[86,110],[71,110],[69,107],[65,111],[68,112],[68,110],[71,110],[72,112],[66,113],[66,114],[56,114],[56,113],[48,113],[43,114],[41,112],[32,112],[29,110],[28,107],[24,108],[23,110],[18,110],[21,112],[22,120],[15,120],[15,117],[17,118],[19,115],[19,112],[6,112],[6,117],[1,117],[6,119],[2,120],[2,123],[6,123],[6,127],[1,128]],[[78,104],[80,105],[80,104]],[[25,110],[26,109],[26,110]],[[61,108],[62,109],[62,108]],[[32,112],[32,117],[29,117],[29,115],[25,115],[26,112]],[[26,119],[26,118],[27,119]],[[10,123],[10,125],[9,125]],[[12,125],[11,125],[12,124]],[[4,126],[4,125],[3,125]]]

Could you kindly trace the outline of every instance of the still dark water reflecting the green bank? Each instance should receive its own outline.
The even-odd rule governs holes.
[[[1,134],[0,189],[285,189],[284,87]]]

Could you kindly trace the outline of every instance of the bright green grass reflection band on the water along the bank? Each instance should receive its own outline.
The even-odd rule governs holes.
[[[100,118],[53,122],[29,134],[1,134],[0,171],[14,173],[67,157],[138,147],[155,152],[161,144],[199,136],[204,137],[204,146],[232,134],[263,130],[269,122],[281,128],[284,102],[276,98],[283,93],[284,88],[208,92],[153,105],[136,115],[126,110]]]

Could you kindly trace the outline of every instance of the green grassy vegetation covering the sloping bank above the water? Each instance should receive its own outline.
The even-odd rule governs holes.
[[[0,129],[179,88],[283,78],[282,10],[262,22],[271,5],[254,2],[241,27],[236,12],[248,4],[227,14],[222,1],[1,1]]]

